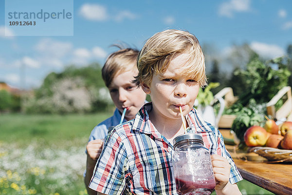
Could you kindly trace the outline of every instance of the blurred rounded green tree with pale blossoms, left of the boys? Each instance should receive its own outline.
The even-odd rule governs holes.
[[[103,111],[112,106],[101,77],[101,67],[93,63],[78,68],[69,66],[60,73],[51,72],[35,97],[26,101],[25,110],[35,113],[72,113]]]

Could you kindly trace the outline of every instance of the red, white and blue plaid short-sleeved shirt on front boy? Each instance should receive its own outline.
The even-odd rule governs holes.
[[[111,131],[96,163],[91,189],[107,195],[177,195],[171,160],[173,146],[150,122],[151,109],[152,104],[146,104],[134,120]],[[202,136],[211,155],[218,154],[229,161],[230,182],[242,180],[219,130],[204,122],[196,109],[188,113],[186,120],[190,132]]]

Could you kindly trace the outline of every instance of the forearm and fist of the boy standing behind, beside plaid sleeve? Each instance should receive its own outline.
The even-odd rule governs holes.
[[[95,164],[99,158],[102,151],[103,141],[102,140],[92,140],[88,142],[87,149],[87,161],[86,161],[86,174],[84,178],[84,183],[89,195],[96,195],[96,191],[88,187],[91,177],[94,171]]]

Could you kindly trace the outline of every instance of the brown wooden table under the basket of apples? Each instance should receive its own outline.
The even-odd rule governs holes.
[[[242,154],[234,153],[233,145],[226,145],[226,149],[244,179],[276,195],[292,195],[292,163],[243,161],[237,158]]]

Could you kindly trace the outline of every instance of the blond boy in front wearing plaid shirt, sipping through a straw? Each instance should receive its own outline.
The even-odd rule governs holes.
[[[116,126],[97,161],[90,188],[98,194],[177,195],[171,154],[173,139],[197,133],[210,150],[218,195],[240,195],[242,179],[219,130],[193,108],[206,85],[204,55],[198,39],[185,31],[165,30],[150,37],[137,58],[134,82],[150,94],[134,120]]]

